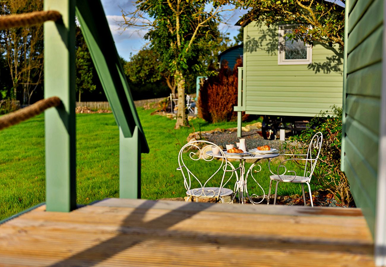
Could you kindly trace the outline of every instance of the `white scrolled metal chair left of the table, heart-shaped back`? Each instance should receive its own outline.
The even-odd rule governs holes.
[[[212,148],[219,149],[217,157],[213,155]],[[201,165],[203,161],[212,161],[215,166],[215,172],[205,172]],[[196,166],[194,166],[195,164]],[[178,165],[177,170],[182,172],[184,186],[187,190],[186,195],[188,198],[186,201],[189,201],[191,198],[195,198],[196,202],[198,202],[199,198],[217,198],[217,201],[220,199],[222,203],[225,203],[224,197],[232,196],[234,191],[224,186],[228,184],[234,175],[236,181],[239,180],[236,171],[239,168],[235,169],[227,161],[220,147],[205,140],[192,141],[184,145],[178,154]],[[220,186],[213,186],[218,185],[218,183]],[[232,203],[232,200],[229,203]]]

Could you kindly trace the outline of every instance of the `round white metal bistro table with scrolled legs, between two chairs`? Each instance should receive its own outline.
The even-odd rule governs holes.
[[[260,167],[260,169],[257,171],[257,172],[260,172],[261,166],[259,164],[257,164],[258,161],[260,161],[261,159],[270,159],[273,157],[278,157],[278,155],[279,155],[279,153],[251,154],[251,155],[245,155],[245,156],[236,156],[236,155],[232,156],[232,155],[227,154],[226,155],[227,159],[239,159],[240,160],[240,163],[239,163],[240,180],[236,182],[235,195],[233,196],[233,200],[236,198],[236,195],[237,195],[236,192],[237,192],[238,196],[239,196],[239,201],[242,204],[246,203],[247,198],[249,199],[249,201],[252,204],[261,203],[265,198],[265,192],[264,192],[264,189],[261,187],[261,185],[256,181],[255,177],[253,176],[253,174],[252,174],[253,168],[256,166]],[[221,154],[215,154],[214,157],[222,158],[222,155]],[[245,161],[247,159],[254,159],[255,161],[252,163],[252,165],[248,168],[248,171],[245,173]],[[231,164],[231,163],[229,162],[229,164]],[[251,196],[249,196],[248,189],[247,189],[248,176],[251,176],[254,179],[254,181],[256,182],[256,184],[263,191],[264,197],[259,202],[255,202],[252,200],[252,196],[254,196],[254,195],[257,196],[257,194],[251,194]]]

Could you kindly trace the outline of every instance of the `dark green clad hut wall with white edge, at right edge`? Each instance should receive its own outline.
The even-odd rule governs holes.
[[[386,265],[386,56],[384,0],[346,1],[342,170]]]

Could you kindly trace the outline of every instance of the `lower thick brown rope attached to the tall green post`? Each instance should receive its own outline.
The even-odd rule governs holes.
[[[47,99],[39,100],[26,108],[4,115],[0,117],[0,130],[23,122],[24,120],[28,120],[29,118],[39,115],[47,108],[59,106],[61,103],[62,101],[58,96],[52,96]]]

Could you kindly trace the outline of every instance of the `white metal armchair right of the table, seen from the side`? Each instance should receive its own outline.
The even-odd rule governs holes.
[[[303,191],[303,200],[304,205],[306,206],[306,197],[304,194],[304,183],[308,186],[308,191],[310,192],[311,206],[313,206],[312,202],[312,194],[310,187],[310,180],[312,178],[313,171],[315,170],[316,163],[319,159],[320,149],[322,147],[323,142],[323,134],[321,132],[317,132],[311,139],[310,145],[308,146],[307,154],[281,154],[288,156],[306,156],[305,158],[295,158],[295,159],[286,159],[279,164],[279,167],[275,172],[271,170],[271,160],[269,161],[268,167],[269,171],[273,174],[269,178],[269,192],[268,192],[268,200],[267,204],[269,204],[269,196],[271,195],[271,185],[272,181],[276,181],[276,189],[275,189],[275,198],[273,204],[276,204],[276,196],[278,193],[278,184],[279,182],[284,183],[300,183],[301,190]],[[286,161],[305,161],[304,173],[303,176],[296,175],[295,171],[287,170],[287,167],[284,164]],[[284,169],[284,172],[279,174],[280,168]],[[289,175],[289,173],[293,173],[294,175]]]

